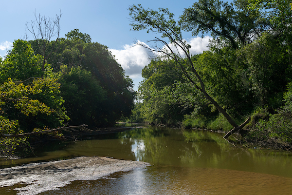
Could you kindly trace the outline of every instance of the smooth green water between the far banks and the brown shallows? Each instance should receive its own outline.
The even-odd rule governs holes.
[[[139,128],[90,140],[56,143],[36,151],[37,157],[0,160],[1,167],[76,156],[110,156],[154,165],[219,168],[292,177],[292,154],[231,146],[209,131]]]

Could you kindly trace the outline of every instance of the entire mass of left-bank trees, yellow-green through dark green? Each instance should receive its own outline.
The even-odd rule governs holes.
[[[28,150],[31,138],[23,134],[61,137],[63,126],[112,126],[134,105],[132,80],[106,46],[78,29],[45,50],[37,41],[15,40],[0,59],[2,155]]]

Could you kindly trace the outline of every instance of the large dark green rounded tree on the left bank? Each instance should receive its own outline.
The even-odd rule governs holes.
[[[31,43],[40,54],[36,41]],[[48,45],[48,51],[53,44]],[[70,124],[109,126],[131,114],[135,98],[132,80],[107,46],[91,42],[89,35],[74,29],[55,48],[47,63],[54,72],[62,72],[60,90]],[[62,69],[63,65],[67,68]]]

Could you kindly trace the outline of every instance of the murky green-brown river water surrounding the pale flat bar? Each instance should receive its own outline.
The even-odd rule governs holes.
[[[73,181],[40,195],[292,195],[292,153],[233,147],[221,134],[202,130],[139,128],[58,142],[36,156],[0,160],[0,167],[76,156],[152,164],[96,181]],[[0,194],[16,194],[13,188]]]

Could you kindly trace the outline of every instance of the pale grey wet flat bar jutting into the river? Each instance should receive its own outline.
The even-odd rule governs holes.
[[[37,195],[57,190],[74,180],[96,180],[116,172],[149,166],[146,162],[109,157],[83,156],[68,160],[40,162],[0,169],[0,187],[27,184],[15,188],[18,195]]]

